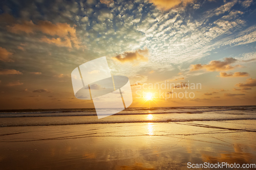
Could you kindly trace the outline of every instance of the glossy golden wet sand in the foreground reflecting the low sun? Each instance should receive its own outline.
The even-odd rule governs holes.
[[[1,169],[188,169],[256,163],[256,120],[1,127]]]

